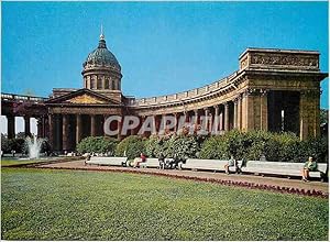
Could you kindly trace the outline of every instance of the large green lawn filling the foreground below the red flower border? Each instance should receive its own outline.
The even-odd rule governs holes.
[[[328,200],[166,177],[2,168],[6,240],[328,240]]]

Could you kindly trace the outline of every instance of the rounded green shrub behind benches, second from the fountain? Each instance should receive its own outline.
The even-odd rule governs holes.
[[[144,140],[136,135],[131,135],[123,139],[116,148],[117,156],[125,155],[129,160],[140,157],[141,153],[145,153]]]

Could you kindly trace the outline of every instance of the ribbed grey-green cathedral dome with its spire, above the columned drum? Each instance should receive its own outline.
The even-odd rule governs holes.
[[[112,67],[118,72],[121,70],[120,64],[116,56],[107,48],[105,36],[101,34],[99,46],[89,53],[86,62],[82,64],[84,68],[91,67]]]

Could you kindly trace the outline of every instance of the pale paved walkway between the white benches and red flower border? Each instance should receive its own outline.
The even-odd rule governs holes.
[[[116,166],[97,166],[85,165],[84,161],[73,161],[63,163],[53,163],[37,165],[40,168],[59,168],[59,169],[82,169],[82,170],[105,170],[105,172],[127,172],[127,173],[143,173],[161,176],[172,176],[177,178],[189,178],[206,182],[232,182],[232,184],[258,184],[265,186],[276,186],[284,188],[296,188],[307,190],[321,191],[323,195],[329,194],[329,184],[321,182],[304,183],[300,179],[288,179],[280,177],[262,177],[254,175],[227,175],[224,173],[211,173],[211,172],[193,172],[193,170],[177,170],[177,169],[156,169],[156,168],[132,168],[132,167],[116,167]],[[230,183],[229,182],[229,183]],[[228,183],[226,183],[228,184]]]

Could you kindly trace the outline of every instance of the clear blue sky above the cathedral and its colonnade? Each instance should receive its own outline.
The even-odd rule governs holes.
[[[127,96],[175,94],[239,68],[248,47],[319,51],[328,72],[327,2],[2,2],[2,92],[82,88],[100,25]],[[328,108],[328,79],[321,107]]]

